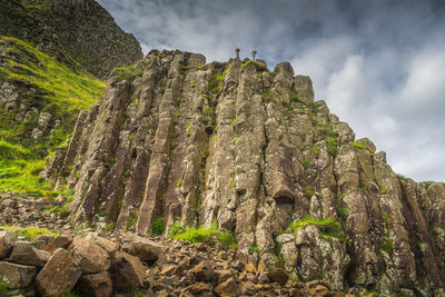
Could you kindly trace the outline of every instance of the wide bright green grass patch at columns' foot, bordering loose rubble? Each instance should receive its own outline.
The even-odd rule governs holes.
[[[220,231],[214,221],[209,228],[204,227],[186,227],[184,231],[177,234],[172,237],[176,240],[185,240],[190,244],[205,242],[212,245],[219,242],[221,245],[228,246],[230,248],[237,248],[238,244],[235,236]]]

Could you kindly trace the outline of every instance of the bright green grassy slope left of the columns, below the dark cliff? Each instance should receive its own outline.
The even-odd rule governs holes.
[[[49,196],[52,194],[38,176],[44,157],[68,139],[79,110],[97,102],[105,85],[88,72],[72,72],[21,40],[0,37],[0,51],[4,49],[0,80],[31,85],[38,96],[21,102],[50,112],[61,126],[51,137],[33,140],[29,135],[38,116],[20,122],[16,120],[19,110],[6,115],[0,109],[0,191]]]

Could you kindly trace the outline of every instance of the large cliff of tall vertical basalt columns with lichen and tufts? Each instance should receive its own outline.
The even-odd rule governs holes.
[[[445,186],[397,177],[286,62],[152,51],[113,72],[43,175],[76,189],[76,224],[216,221],[259,270],[383,294],[445,285]]]

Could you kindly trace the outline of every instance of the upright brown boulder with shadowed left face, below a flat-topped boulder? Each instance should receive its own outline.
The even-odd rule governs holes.
[[[117,251],[111,260],[112,285],[118,290],[128,290],[144,285],[146,269],[138,257]]]

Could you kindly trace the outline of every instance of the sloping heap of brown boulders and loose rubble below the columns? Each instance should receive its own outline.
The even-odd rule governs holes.
[[[73,240],[66,248],[51,251],[41,269],[17,264],[12,257],[1,257],[1,294],[30,297],[65,296],[69,293],[97,297],[320,296],[319,293],[324,291],[327,296],[345,296],[344,293],[333,289],[328,281],[288,281],[289,276],[284,269],[259,273],[254,266],[235,260],[236,253],[233,249],[152,238],[159,254],[156,255],[156,261],[146,261],[123,251],[125,245],[132,246],[132,242],[146,239],[134,234],[107,238],[97,232],[78,230],[76,234],[68,232],[59,237]],[[59,237],[22,242],[36,246],[57,245]],[[116,246],[116,249],[107,250],[111,265],[101,266],[95,271],[85,270],[90,267],[85,264],[90,258],[102,257],[102,251],[91,248],[89,254],[83,254],[79,249],[99,245]]]

